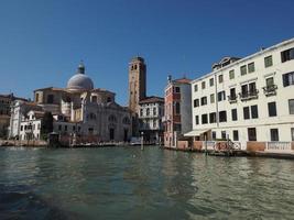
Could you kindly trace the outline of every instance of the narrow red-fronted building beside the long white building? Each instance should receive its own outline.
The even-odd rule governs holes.
[[[192,129],[190,80],[168,76],[164,106],[164,145],[176,147],[178,139]]]

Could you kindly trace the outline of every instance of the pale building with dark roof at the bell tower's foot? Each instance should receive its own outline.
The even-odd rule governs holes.
[[[161,97],[148,97],[139,102],[139,131],[149,143],[163,141],[164,99]]]

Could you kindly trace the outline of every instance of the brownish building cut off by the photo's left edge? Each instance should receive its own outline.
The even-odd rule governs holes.
[[[8,128],[10,123],[11,103],[14,100],[26,100],[24,98],[14,97],[13,94],[0,95],[0,138],[8,135]]]

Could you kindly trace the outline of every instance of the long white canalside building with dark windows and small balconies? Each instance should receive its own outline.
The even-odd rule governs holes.
[[[294,38],[242,59],[227,57],[192,81],[195,140],[294,141]],[[282,143],[283,142],[283,143]],[[286,142],[286,143],[285,143]],[[277,146],[279,147],[279,146]],[[292,146],[293,147],[293,146]]]

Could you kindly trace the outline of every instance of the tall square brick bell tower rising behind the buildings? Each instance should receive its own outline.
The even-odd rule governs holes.
[[[129,64],[129,109],[138,113],[139,101],[146,97],[146,65],[142,57]]]

